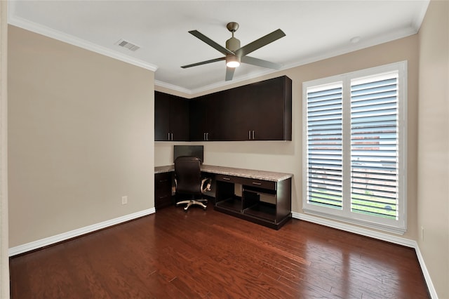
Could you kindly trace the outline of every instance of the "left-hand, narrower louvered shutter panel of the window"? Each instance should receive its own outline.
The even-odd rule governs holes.
[[[307,201],[342,208],[342,84],[307,89]]]

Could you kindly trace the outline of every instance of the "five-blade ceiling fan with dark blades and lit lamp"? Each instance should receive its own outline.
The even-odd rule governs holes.
[[[240,47],[239,39],[236,39],[234,37],[234,32],[236,32],[237,29],[239,29],[239,23],[229,22],[226,25],[226,27],[230,32],[232,32],[232,37],[226,41],[226,48],[220,46],[220,44],[217,44],[212,39],[209,39],[208,36],[202,34],[197,30],[189,31],[190,34],[201,39],[201,41],[204,41],[206,44],[215,48],[215,50],[220,51],[226,56],[202,62],[196,62],[193,63],[192,65],[184,65],[182,66],[182,68],[196,67],[197,65],[206,65],[207,63],[211,62],[226,60],[226,78],[225,78],[226,81],[232,80],[232,77],[234,77],[234,71],[236,67],[239,67],[241,62],[248,63],[250,65],[257,65],[259,67],[268,67],[270,69],[281,68],[281,65],[277,63],[247,56],[247,54],[257,50],[258,48],[262,48],[263,46],[266,46],[267,44],[272,43],[273,41],[276,41],[277,39],[280,39],[283,36],[286,36],[286,34],[283,33],[281,29],[274,30],[274,32],[262,36],[260,39],[256,39],[255,41],[251,42],[250,44],[247,44],[246,46]]]

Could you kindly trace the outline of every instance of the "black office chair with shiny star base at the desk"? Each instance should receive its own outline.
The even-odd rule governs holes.
[[[196,199],[210,190],[210,178],[201,178],[200,159],[194,156],[177,157],[175,160],[176,195],[189,194],[191,199],[179,201],[176,206],[187,204],[184,211],[192,205],[199,205],[206,210],[207,199]]]

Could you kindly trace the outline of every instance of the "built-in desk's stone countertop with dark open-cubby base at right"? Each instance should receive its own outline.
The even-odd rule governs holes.
[[[174,166],[155,167],[156,176],[174,171]],[[278,230],[291,218],[290,173],[202,165],[215,186],[216,211]]]

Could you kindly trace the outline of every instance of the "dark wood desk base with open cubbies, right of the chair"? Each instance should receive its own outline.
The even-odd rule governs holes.
[[[291,214],[291,178],[278,182],[216,175],[215,210],[279,230]]]

